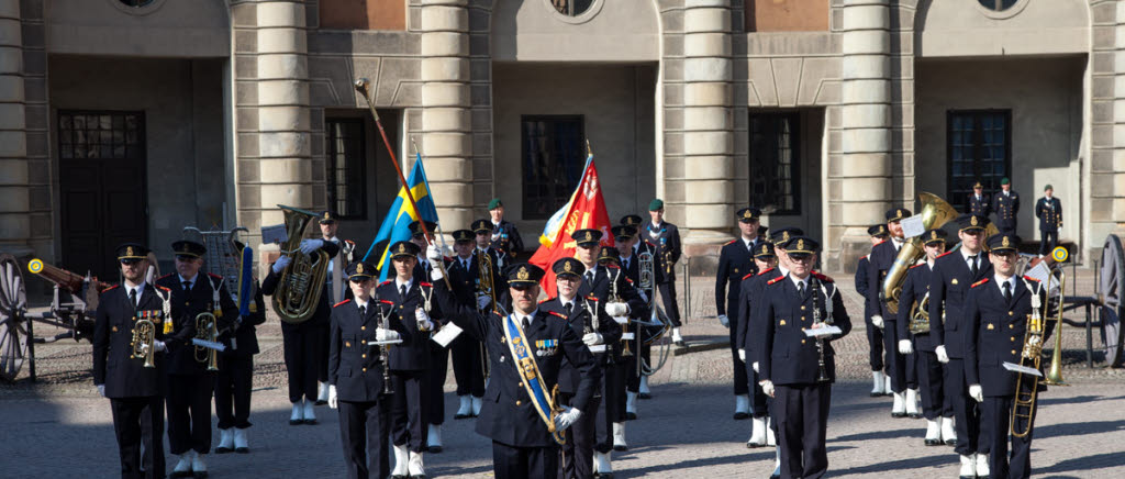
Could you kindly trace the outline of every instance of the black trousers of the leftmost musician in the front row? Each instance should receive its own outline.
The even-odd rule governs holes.
[[[164,398],[110,398],[123,479],[164,477]],[[144,442],[144,457],[141,443]],[[144,472],[141,471],[142,467]]]

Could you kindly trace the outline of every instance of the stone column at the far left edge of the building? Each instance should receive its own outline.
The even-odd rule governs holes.
[[[32,253],[19,0],[0,0],[0,253]]]

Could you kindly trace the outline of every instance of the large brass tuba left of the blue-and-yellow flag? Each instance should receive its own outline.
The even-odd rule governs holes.
[[[278,289],[273,292],[273,310],[286,323],[303,323],[316,313],[321,301],[321,291],[328,279],[328,253],[316,251],[312,255],[302,253],[300,241],[305,229],[317,215],[312,211],[278,205],[285,213],[285,226],[288,233],[281,245],[281,254],[288,254],[291,261],[278,278]]]

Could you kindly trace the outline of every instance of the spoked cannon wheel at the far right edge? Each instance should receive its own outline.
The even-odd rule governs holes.
[[[1098,272],[1098,291],[1101,292],[1101,327],[1106,345],[1106,363],[1112,368],[1122,365],[1122,346],[1125,328],[1125,250],[1117,235],[1106,237],[1101,248],[1101,268]]]

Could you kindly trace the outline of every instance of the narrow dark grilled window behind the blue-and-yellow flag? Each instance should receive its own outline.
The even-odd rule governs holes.
[[[367,219],[363,120],[330,118],[324,126],[327,129],[328,209],[340,219]]]

